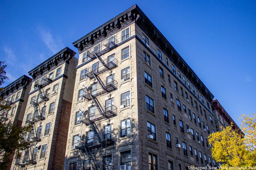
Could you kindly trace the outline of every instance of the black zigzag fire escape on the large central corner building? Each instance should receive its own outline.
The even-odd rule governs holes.
[[[99,77],[99,75],[105,71],[111,71],[111,69],[117,67],[117,60],[113,56],[107,59],[100,57],[111,49],[116,48],[117,41],[114,37],[111,37],[102,44],[105,48],[99,52],[87,51],[88,57],[91,59],[96,57],[99,60],[98,63],[93,64],[86,72],[86,76],[90,80],[94,79],[94,82],[97,83],[92,84],[88,88],[85,87],[83,96],[88,102],[92,100],[95,109],[85,111],[81,120],[86,126],[90,126],[93,134],[90,136],[87,134],[87,137],[81,138],[77,144],[77,149],[87,155],[93,170],[113,168],[112,165],[104,165],[103,152],[105,152],[106,155],[107,147],[113,145],[116,139],[116,135],[112,131],[104,129],[104,132],[101,133],[95,124],[95,122],[108,120],[115,116],[117,110],[117,107],[112,103],[103,106],[97,99],[98,96],[102,96],[117,89],[117,82],[113,78],[107,78],[106,81],[102,81]],[[100,160],[96,159],[95,154],[97,153],[100,154]]]

